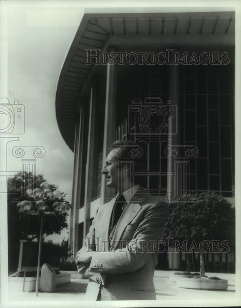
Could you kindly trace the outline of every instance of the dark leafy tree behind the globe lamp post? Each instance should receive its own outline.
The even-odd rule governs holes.
[[[14,177],[8,178],[8,259],[9,267],[16,270],[19,254],[19,240],[26,239],[33,241],[39,237],[40,219],[38,215],[31,216],[30,219],[19,219],[17,202],[26,200],[26,191],[40,186],[46,180],[42,174],[33,176],[31,172],[18,172]],[[35,184],[36,183],[36,184]],[[55,190],[58,186],[51,184],[51,190]],[[65,200],[66,194],[62,193],[62,201],[69,204]],[[45,217],[43,222],[43,233],[45,235],[60,234],[61,230],[66,228],[66,217],[60,219],[55,216]]]

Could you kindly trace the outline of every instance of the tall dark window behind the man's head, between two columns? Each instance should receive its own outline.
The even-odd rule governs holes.
[[[158,171],[159,164],[162,171],[167,170],[167,158],[164,155],[164,149],[168,144],[167,141],[163,142],[159,153],[158,142],[161,140],[161,134],[156,136],[155,140],[152,138],[152,133],[136,140],[135,133],[140,132],[140,119],[138,114],[129,112],[129,105],[132,104],[133,100],[144,103],[148,97],[160,97],[165,104],[168,100],[168,72],[168,67],[164,65],[143,65],[133,68],[129,75],[125,77],[124,82],[123,78],[118,80],[116,139],[137,141],[143,147],[144,160],[146,161],[143,171]],[[153,127],[158,127],[160,121],[160,116],[153,115],[149,123]],[[130,127],[128,123],[131,124]],[[147,144],[149,148],[147,148]],[[140,184],[148,187],[151,193],[166,194],[166,176],[150,175],[142,178]]]

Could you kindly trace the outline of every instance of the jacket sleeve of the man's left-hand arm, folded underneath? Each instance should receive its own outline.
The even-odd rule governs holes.
[[[97,210],[98,212],[98,210]],[[89,233],[87,234],[84,244],[82,248],[80,249],[80,253],[85,253],[86,251],[94,251],[96,250],[95,245],[95,218],[92,221],[92,224],[89,228]],[[105,285],[105,274],[101,273],[93,273],[91,272],[89,268],[90,263],[82,263],[79,262],[77,264],[77,270],[81,275],[84,275],[85,277],[93,280],[94,282],[97,282],[101,285]]]

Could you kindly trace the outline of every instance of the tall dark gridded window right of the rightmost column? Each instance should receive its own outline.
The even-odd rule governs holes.
[[[180,66],[180,144],[196,145],[190,189],[232,196],[234,115],[230,65]],[[183,155],[183,153],[182,153]]]

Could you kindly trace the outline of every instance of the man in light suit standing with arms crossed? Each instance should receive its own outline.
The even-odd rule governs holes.
[[[99,207],[77,252],[78,271],[89,278],[87,300],[156,299],[155,244],[162,237],[168,205],[164,197],[141,192],[132,168],[120,164],[130,161],[136,147],[128,140],[115,142],[102,170],[106,185],[118,194]],[[134,169],[138,167],[134,160]]]

